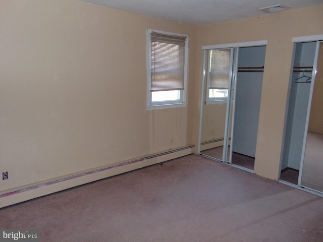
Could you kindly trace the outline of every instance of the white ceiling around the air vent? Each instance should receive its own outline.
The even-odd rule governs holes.
[[[114,9],[195,26],[264,15],[259,8],[282,4],[290,10],[323,0],[80,0]]]

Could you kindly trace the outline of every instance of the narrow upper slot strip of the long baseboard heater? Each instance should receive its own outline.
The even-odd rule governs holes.
[[[155,158],[155,157],[158,157],[158,156],[168,155],[168,154],[179,152],[179,151],[182,151],[182,150],[191,149],[191,148],[194,148],[194,147],[195,147],[195,145],[189,145],[189,146],[185,146],[185,147],[182,147],[182,148],[172,149],[172,150],[168,150],[168,151],[161,152],[161,153],[147,155],[147,156],[144,156],[144,157],[141,157],[141,158],[128,160],[128,161],[117,163],[117,164],[114,164],[114,165],[104,166],[104,167],[101,167],[101,168],[98,168],[98,169],[94,169],[94,170],[90,170],[90,171],[86,171],[86,172],[81,172],[81,173],[77,173],[77,174],[70,175],[70,176],[65,176],[65,177],[58,178],[58,179],[53,179],[53,180],[50,180],[50,181],[46,181],[44,183],[39,183],[39,184],[36,184],[36,185],[32,185],[32,186],[28,186],[28,187],[24,187],[24,188],[20,188],[20,189],[16,189],[16,190],[11,190],[11,191],[8,191],[8,192],[0,193],[0,198],[11,196],[11,195],[22,193],[22,192],[27,192],[27,191],[37,189],[37,188],[46,187],[46,186],[49,186],[49,185],[61,183],[61,182],[66,181],[66,180],[75,179],[75,178],[78,178],[78,177],[81,177],[81,176],[94,174],[94,173],[97,173],[97,172],[117,168],[117,167],[120,167],[120,166],[129,165],[129,164],[136,163],[136,162],[139,162],[139,161],[152,159],[152,158]]]

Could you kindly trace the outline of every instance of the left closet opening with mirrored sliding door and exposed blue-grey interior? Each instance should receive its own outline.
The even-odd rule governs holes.
[[[206,48],[199,153],[253,171],[265,46]]]

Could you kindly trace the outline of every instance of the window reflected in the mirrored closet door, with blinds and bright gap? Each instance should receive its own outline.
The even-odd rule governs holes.
[[[227,100],[231,76],[231,52],[231,49],[208,51],[206,102]]]

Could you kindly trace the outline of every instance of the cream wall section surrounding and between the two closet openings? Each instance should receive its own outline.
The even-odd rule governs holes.
[[[302,16],[301,20],[300,17]],[[323,5],[199,27],[195,103],[198,116],[203,45],[267,40],[254,172],[278,179],[291,70],[292,37],[323,33]],[[295,24],[297,23],[297,24]],[[199,120],[195,118],[195,127]],[[193,129],[194,140],[198,139]],[[197,143],[197,142],[195,142]]]

